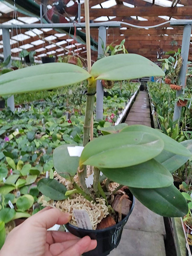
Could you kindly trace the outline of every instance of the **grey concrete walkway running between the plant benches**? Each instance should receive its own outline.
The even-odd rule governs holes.
[[[125,121],[128,125],[151,127],[148,93],[140,91]],[[163,217],[136,200],[122,233],[119,246],[110,256],[166,256]]]

